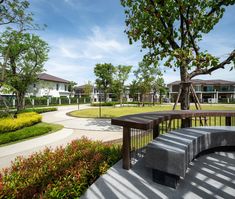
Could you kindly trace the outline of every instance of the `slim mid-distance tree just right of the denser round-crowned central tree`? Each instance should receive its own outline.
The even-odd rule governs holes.
[[[119,97],[120,106],[123,103],[123,95],[125,93],[125,82],[129,77],[132,66],[118,65],[115,72],[115,80],[113,84],[113,91]]]

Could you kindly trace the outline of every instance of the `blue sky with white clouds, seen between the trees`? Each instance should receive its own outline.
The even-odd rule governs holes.
[[[129,45],[125,16],[119,0],[31,0],[35,21],[47,24],[39,34],[50,46],[47,73],[78,84],[94,82],[97,63],[138,66],[142,59],[140,44]],[[215,29],[206,35],[201,47],[222,59],[235,47],[235,6],[229,7]],[[204,79],[235,81],[229,67],[203,76]],[[134,78],[133,74],[129,81]],[[179,79],[179,72],[167,70],[166,83]]]

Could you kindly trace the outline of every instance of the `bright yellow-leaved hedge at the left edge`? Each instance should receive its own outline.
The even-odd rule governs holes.
[[[15,131],[26,126],[32,126],[33,124],[41,122],[41,120],[42,116],[34,112],[18,114],[17,118],[2,118],[0,119],[0,133]]]

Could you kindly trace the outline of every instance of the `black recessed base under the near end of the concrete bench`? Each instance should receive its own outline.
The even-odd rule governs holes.
[[[157,169],[152,169],[153,181],[176,189],[180,177]]]

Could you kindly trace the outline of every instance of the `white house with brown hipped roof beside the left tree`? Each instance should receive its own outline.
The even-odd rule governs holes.
[[[47,73],[40,74],[38,79],[38,82],[29,86],[27,96],[69,97],[71,94],[68,91],[68,80]]]

